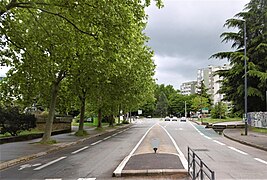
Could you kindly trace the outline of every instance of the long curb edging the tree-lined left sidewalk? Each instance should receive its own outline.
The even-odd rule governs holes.
[[[107,131],[107,132],[101,132],[101,133],[98,133],[98,134],[94,134],[94,135],[92,135],[90,137],[83,138],[83,139],[80,139],[80,140],[75,141],[75,142],[62,143],[61,145],[59,145],[57,147],[54,147],[54,148],[51,148],[51,149],[49,149],[47,151],[43,151],[43,152],[39,152],[39,153],[27,155],[27,156],[22,156],[22,157],[19,157],[19,158],[16,158],[16,159],[12,159],[12,160],[9,160],[9,161],[2,162],[2,163],[0,163],[0,170],[9,168],[11,166],[17,165],[17,164],[22,163],[22,162],[26,162],[26,161],[29,161],[29,160],[32,160],[32,159],[35,159],[35,158],[38,158],[38,157],[47,155],[47,154],[52,153],[52,152],[55,152],[55,151],[59,151],[59,150],[64,149],[66,147],[69,147],[69,146],[72,146],[72,145],[75,145],[75,144],[82,143],[82,142],[84,142],[84,141],[86,141],[86,140],[88,140],[90,138],[101,136],[103,134],[106,134],[106,133],[109,133],[109,132],[113,132],[113,131],[115,131],[117,129],[122,129],[122,128],[128,127],[130,125],[131,124],[125,125],[123,127],[119,127],[119,128],[116,128],[116,129],[112,129],[112,130]]]

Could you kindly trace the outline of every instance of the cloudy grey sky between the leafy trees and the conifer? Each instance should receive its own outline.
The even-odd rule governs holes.
[[[226,60],[209,59],[219,51],[231,50],[221,43],[227,19],[243,11],[249,0],[163,0],[164,8],[147,8],[146,35],[154,50],[158,84],[180,89],[196,80],[197,69],[223,65]],[[232,30],[231,30],[232,31]]]

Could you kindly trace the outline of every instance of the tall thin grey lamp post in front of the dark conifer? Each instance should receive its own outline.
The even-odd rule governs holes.
[[[246,37],[247,37],[247,32],[246,32],[246,21],[244,20],[244,68],[245,68],[245,135],[248,134],[248,120],[247,120],[247,111],[248,111],[248,99],[247,99],[247,41],[246,41]]]

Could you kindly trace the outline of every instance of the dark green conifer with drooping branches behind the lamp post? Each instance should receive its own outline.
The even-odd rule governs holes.
[[[248,111],[266,110],[267,3],[251,0],[245,10],[225,23],[226,27],[236,28],[238,31],[225,32],[221,35],[224,42],[232,42],[235,51],[219,52],[212,56],[219,59],[226,58],[232,65],[230,70],[218,71],[218,75],[224,77],[220,93],[225,94],[224,100],[232,102],[233,111],[239,114],[244,112],[244,39],[247,42]]]

